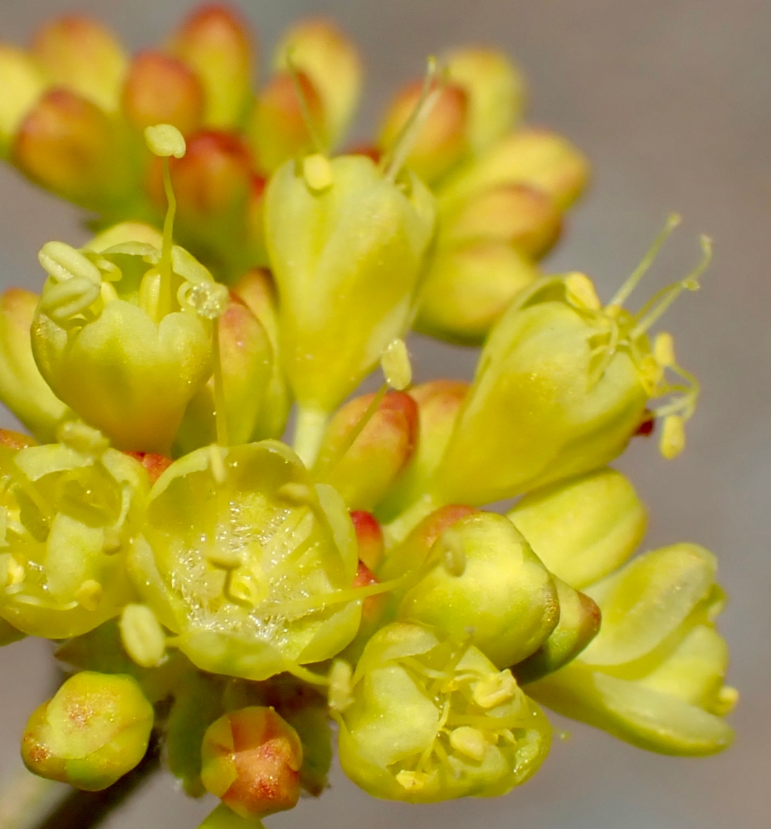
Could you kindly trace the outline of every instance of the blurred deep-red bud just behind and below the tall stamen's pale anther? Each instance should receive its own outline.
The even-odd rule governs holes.
[[[185,157],[171,161],[177,198],[175,238],[225,279],[243,273],[258,259],[248,245],[253,179],[248,149],[231,133],[196,133],[187,142]],[[148,187],[156,205],[163,206],[160,161]]]

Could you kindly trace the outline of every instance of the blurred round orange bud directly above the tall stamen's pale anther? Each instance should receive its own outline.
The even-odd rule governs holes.
[[[144,51],[128,70],[123,113],[137,130],[171,124],[184,135],[204,119],[204,90],[192,70],[162,52]]]

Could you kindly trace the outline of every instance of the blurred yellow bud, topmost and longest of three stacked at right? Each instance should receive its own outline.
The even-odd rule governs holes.
[[[449,207],[491,187],[524,184],[564,210],[581,195],[588,176],[589,162],[566,138],[545,129],[522,129],[454,173],[439,198]]]

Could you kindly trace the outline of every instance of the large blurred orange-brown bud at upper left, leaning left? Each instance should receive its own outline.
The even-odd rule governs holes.
[[[41,187],[89,209],[110,211],[127,198],[131,186],[111,119],[64,89],[48,92],[24,119],[12,160]]]

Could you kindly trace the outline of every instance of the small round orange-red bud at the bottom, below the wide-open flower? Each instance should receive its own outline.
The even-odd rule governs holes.
[[[272,708],[253,705],[220,717],[206,730],[201,779],[241,817],[265,817],[296,806],[302,745]]]

